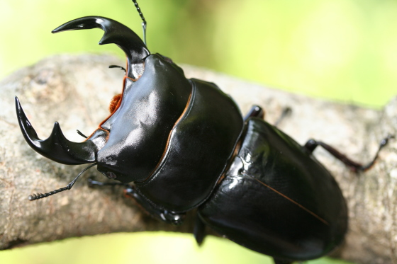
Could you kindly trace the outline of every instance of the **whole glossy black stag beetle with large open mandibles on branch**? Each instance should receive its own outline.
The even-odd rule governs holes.
[[[133,1],[145,38],[146,21]],[[275,263],[319,258],[340,245],[347,205],[312,152],[321,146],[356,171],[371,167],[377,154],[363,166],[323,142],[301,146],[265,122],[257,105],[243,118],[216,84],[186,79],[171,59],[150,53],[133,30],[110,18],[77,18],[52,33],[91,28],[104,30],[99,45],[114,43],[127,57],[123,91],[113,98],[111,115],[84,142],[67,140],[57,122],[42,140],[16,98],[30,147],[59,163],[92,163],[86,169],[96,166],[107,178],[129,183],[127,195],[167,223],[181,224],[196,208],[198,243],[210,226]],[[69,190],[77,178],[29,200]]]

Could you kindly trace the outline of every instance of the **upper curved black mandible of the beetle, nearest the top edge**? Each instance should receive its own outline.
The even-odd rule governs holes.
[[[125,52],[128,60],[127,76],[138,79],[143,73],[144,61],[150,52],[138,35],[122,23],[101,16],[85,16],[60,25],[51,32],[91,28],[101,28],[105,32],[99,45],[114,43]]]

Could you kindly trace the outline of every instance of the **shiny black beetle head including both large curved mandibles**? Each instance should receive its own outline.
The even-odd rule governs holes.
[[[84,142],[70,142],[55,122],[50,137],[40,139],[16,98],[16,113],[26,142],[39,154],[65,164],[97,163],[108,178],[123,183],[150,176],[172,127],[189,101],[191,85],[169,59],[152,54],[133,30],[109,18],[87,16],[52,30],[101,28],[100,45],[114,43],[125,52],[128,69],[123,93],[112,101],[111,115]]]

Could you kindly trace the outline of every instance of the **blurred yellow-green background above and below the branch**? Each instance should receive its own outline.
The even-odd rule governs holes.
[[[267,86],[381,108],[397,93],[396,0],[141,0],[147,45]],[[111,52],[101,30],[52,35],[81,16],[116,19],[142,35],[129,0],[1,0],[0,78],[62,52]],[[62,262],[63,261],[63,262]],[[0,253],[1,263],[266,263],[223,239],[128,234]],[[311,263],[328,263],[318,260]]]

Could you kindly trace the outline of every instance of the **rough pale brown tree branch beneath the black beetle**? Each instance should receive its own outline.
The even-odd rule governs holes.
[[[75,130],[94,131],[108,116],[108,103],[120,93],[123,71],[109,56],[57,56],[21,69],[0,83],[0,249],[43,241],[117,231],[191,232],[193,217],[175,227],[151,219],[119,188],[89,188],[84,178],[104,179],[87,171],[72,190],[29,202],[28,195],[69,183],[84,166],[52,162],[30,149],[16,120],[18,96],[39,137],[46,138],[60,121],[65,136],[82,141]],[[369,161],[386,134],[397,134],[397,98],[383,110],[332,103],[276,91],[256,84],[184,66],[187,77],[205,79],[229,93],[245,113],[252,104],[267,110],[274,122],[288,106],[292,114],[279,126],[301,144],[321,139],[357,161]],[[332,172],[350,208],[350,231],[335,255],[357,263],[397,263],[397,140],[381,151],[366,173],[350,172],[325,151],[315,156]]]

